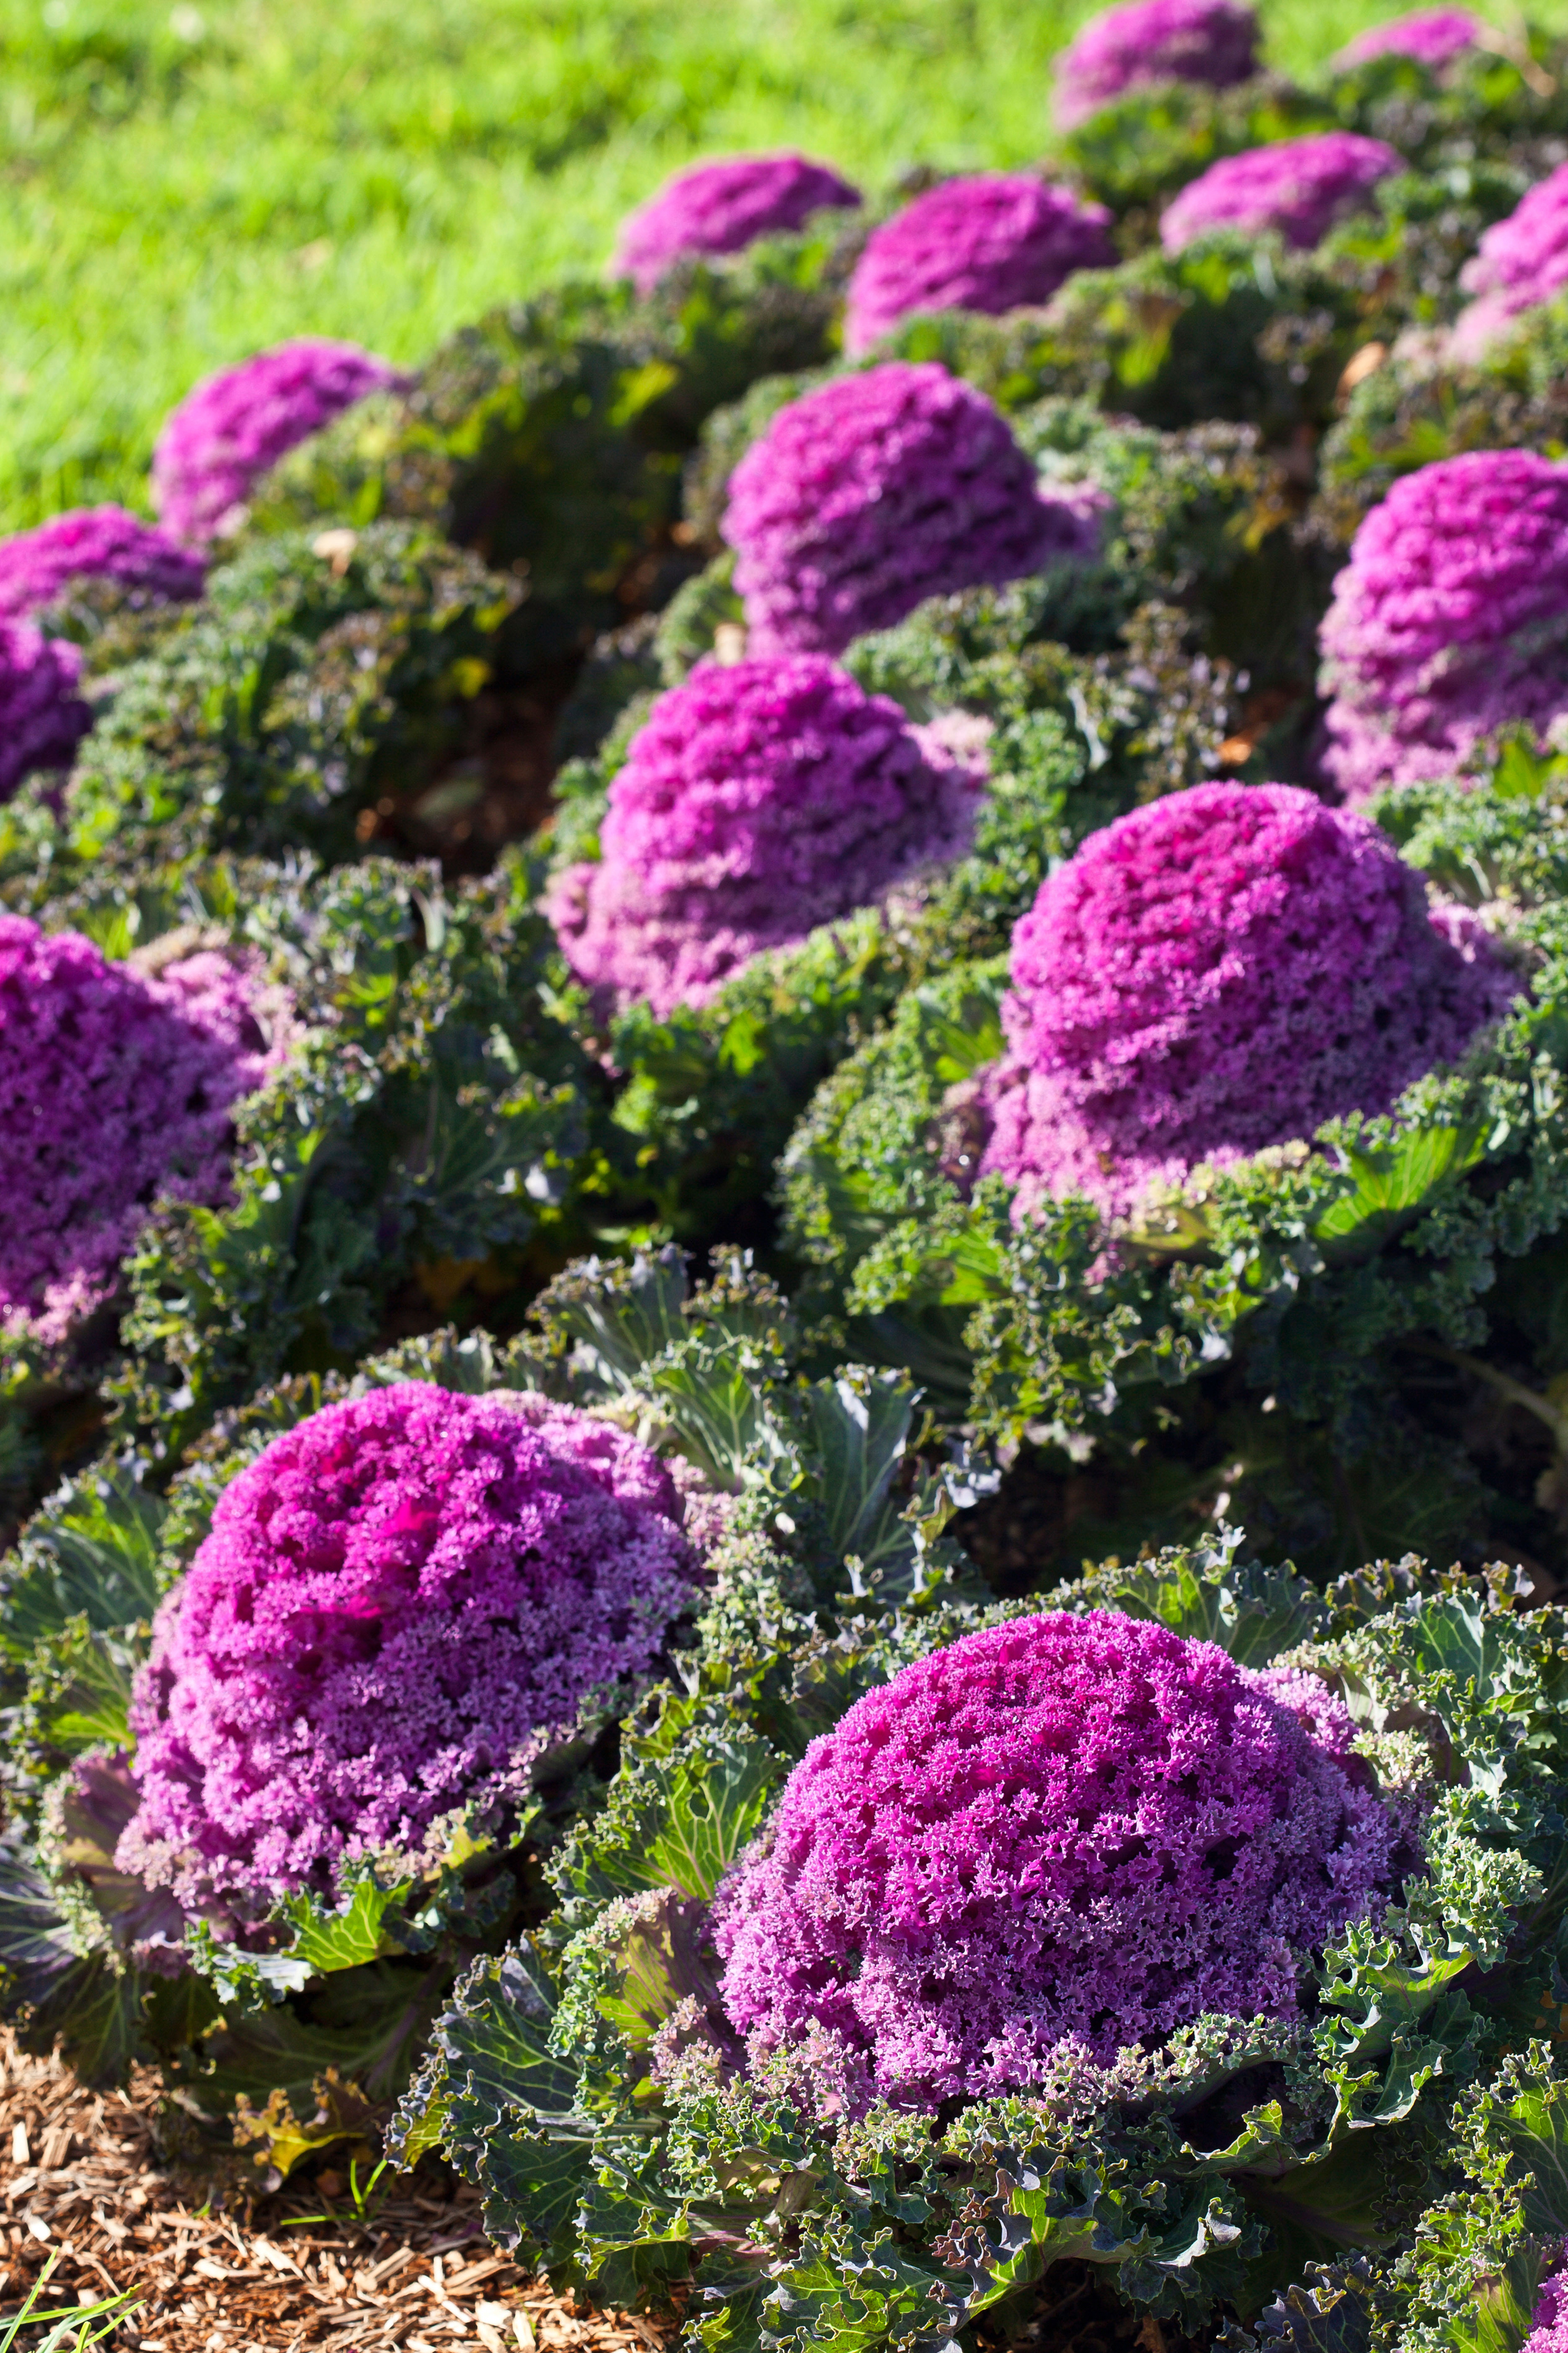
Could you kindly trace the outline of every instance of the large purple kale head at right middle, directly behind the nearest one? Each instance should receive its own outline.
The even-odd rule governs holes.
[[[1078,849],[1012,932],[982,1174],[1019,1214],[1387,1111],[1516,993],[1384,833],[1288,784],[1196,784]]]

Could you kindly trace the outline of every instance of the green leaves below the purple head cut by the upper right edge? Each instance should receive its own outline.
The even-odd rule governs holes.
[[[1323,442],[1314,529],[1347,546],[1389,482],[1464,449],[1568,445],[1568,301],[1526,311],[1481,365],[1453,367],[1441,346],[1391,358],[1351,393]]]

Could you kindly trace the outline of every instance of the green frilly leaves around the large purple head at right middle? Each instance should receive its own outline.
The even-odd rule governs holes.
[[[1554,765],[1526,767],[1384,819],[1439,887],[1511,901],[1533,1002],[1398,1120],[1194,1179],[1109,1264],[1085,1202],[1015,1231],[1001,1179],[972,1188],[998,962],[913,991],[822,1087],[782,1165],[808,1301],[1038,1449],[1076,1499],[1038,1574],[1222,1508],[1316,1574],[1410,1544],[1568,1567],[1563,814]]]

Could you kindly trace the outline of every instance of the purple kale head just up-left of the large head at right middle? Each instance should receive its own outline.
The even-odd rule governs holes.
[[[617,1005],[699,1005],[763,948],[963,856],[977,776],[822,654],[699,664],[610,786],[603,859],[551,894],[567,962]]]

